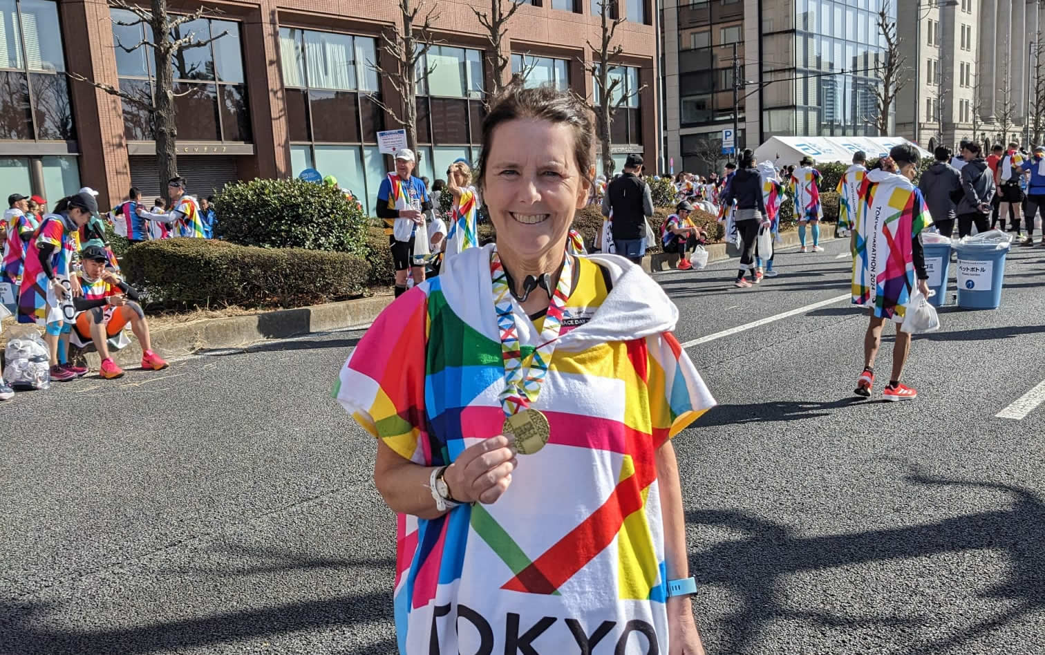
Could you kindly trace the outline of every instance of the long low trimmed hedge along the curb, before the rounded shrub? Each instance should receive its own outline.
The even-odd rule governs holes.
[[[363,294],[369,264],[346,253],[264,249],[227,241],[145,241],[122,260],[127,281],[150,308],[215,305],[302,307]]]

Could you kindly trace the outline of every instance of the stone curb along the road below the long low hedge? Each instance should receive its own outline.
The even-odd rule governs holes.
[[[372,322],[392,300],[392,296],[374,296],[326,305],[176,325],[152,333],[153,350],[169,359],[204,349],[236,348],[266,338],[287,338],[344,329]],[[80,352],[92,371],[101,367],[101,359],[93,347],[90,351]],[[138,340],[132,338],[130,346],[112,355],[121,367],[137,368],[141,362],[141,346]]]

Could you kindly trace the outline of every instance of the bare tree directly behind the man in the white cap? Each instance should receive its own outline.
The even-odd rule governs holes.
[[[439,42],[433,37],[433,23],[439,20],[435,7],[428,9],[418,25],[418,16],[424,7],[424,0],[399,0],[399,15],[402,27],[392,25],[381,33],[381,47],[391,66],[384,67],[380,62],[368,62],[378,75],[388,80],[399,96],[399,108],[373,98],[397,124],[407,130],[407,145],[417,149],[417,86],[427,83],[428,76],[436,67],[427,65],[427,54],[432,46]],[[378,60],[382,57],[378,56]],[[419,67],[423,66],[423,70]]]

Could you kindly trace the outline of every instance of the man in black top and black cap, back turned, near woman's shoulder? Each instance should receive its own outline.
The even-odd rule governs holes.
[[[602,197],[602,215],[613,217],[613,245],[618,255],[642,265],[646,254],[646,217],[653,215],[650,187],[640,177],[641,155],[628,155],[624,174],[613,178]]]

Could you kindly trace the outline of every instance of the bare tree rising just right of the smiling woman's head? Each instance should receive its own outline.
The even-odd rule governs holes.
[[[595,112],[599,123],[599,144],[602,147],[602,171],[606,179],[613,174],[612,138],[610,137],[610,125],[613,121],[613,114],[628,99],[634,97],[640,91],[646,88],[645,85],[638,89],[623,89],[618,92],[621,85],[621,77],[610,75],[611,70],[620,65],[619,57],[624,51],[621,44],[613,43],[617,36],[617,28],[624,22],[624,18],[619,15],[617,0],[598,0],[599,19],[601,36],[599,44],[587,40],[587,47],[591,50],[593,61],[586,62],[581,57],[577,61],[584,67],[585,71],[595,78],[595,98],[590,101],[581,98],[588,104],[588,109]],[[616,98],[613,96],[617,96]]]

